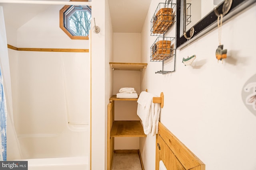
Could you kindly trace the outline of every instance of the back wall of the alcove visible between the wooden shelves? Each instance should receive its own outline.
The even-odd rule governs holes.
[[[114,62],[140,63],[140,33],[114,33]],[[122,87],[133,87],[140,94],[140,71],[114,70],[113,92]],[[139,120],[137,102],[116,101],[115,120]],[[114,149],[139,149],[138,137],[115,137]]]

